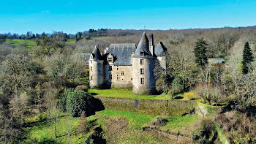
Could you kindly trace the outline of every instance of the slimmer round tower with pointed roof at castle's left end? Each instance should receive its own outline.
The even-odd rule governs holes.
[[[95,46],[89,59],[89,81],[91,88],[99,88],[104,83],[103,58],[99,53],[99,48]]]

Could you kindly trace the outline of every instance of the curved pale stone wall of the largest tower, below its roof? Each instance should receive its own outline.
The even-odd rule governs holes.
[[[140,64],[140,59],[144,60]],[[154,94],[154,63],[155,58],[132,58],[132,92],[135,94]],[[140,74],[140,69],[144,69],[144,74]],[[141,84],[141,78],[144,78],[144,84]]]

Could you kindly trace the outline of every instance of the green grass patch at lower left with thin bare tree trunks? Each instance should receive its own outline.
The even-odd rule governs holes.
[[[50,120],[34,121],[27,126],[24,130],[26,135],[22,143],[69,143],[69,137],[67,137],[68,121],[71,121],[70,129],[72,132],[72,143],[82,143],[84,141],[84,134],[76,133],[76,129],[80,122],[80,118],[72,118],[67,115],[62,115],[57,122],[57,139],[54,135],[54,123]]]

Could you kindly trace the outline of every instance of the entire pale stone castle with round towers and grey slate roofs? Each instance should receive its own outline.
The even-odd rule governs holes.
[[[131,88],[135,94],[154,94],[156,61],[166,69],[167,49],[159,42],[154,45],[153,34],[146,33],[135,43],[111,44],[100,53],[97,45],[89,59],[90,87]]]

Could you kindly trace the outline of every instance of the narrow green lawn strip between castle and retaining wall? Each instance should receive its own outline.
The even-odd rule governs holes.
[[[89,93],[95,93],[95,96],[105,97],[120,97],[129,99],[170,99],[166,94],[161,95],[145,95],[145,94],[132,94],[132,91],[126,89],[89,89]]]

